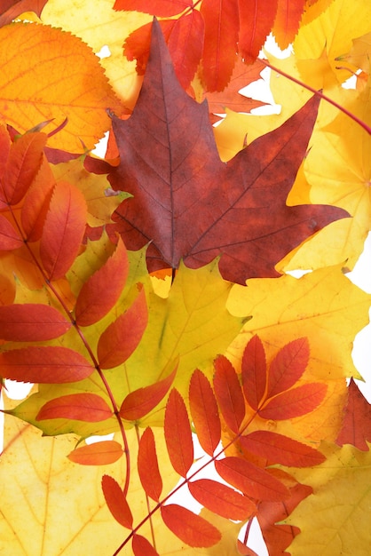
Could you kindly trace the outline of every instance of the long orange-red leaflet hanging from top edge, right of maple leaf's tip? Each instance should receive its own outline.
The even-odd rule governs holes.
[[[202,81],[208,91],[223,91],[237,61],[239,9],[231,0],[202,0],[205,20],[202,52]],[[247,83],[245,83],[247,84]]]

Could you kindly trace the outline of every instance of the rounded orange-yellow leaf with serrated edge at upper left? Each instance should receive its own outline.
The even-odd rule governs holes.
[[[0,115],[20,132],[46,120],[66,126],[50,147],[83,152],[110,127],[107,108],[122,108],[99,60],[76,36],[35,23],[0,29]],[[82,144],[83,141],[83,144]]]

